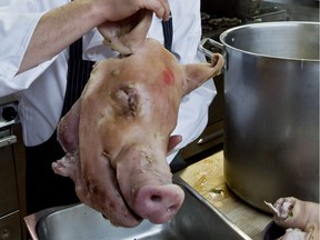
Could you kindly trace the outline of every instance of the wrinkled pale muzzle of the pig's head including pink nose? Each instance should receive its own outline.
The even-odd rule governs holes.
[[[131,159],[113,161],[117,184],[128,211],[137,221],[148,219],[152,223],[164,223],[180,209],[184,192],[172,183],[167,161],[156,160],[148,152],[150,150],[139,144],[123,149],[122,154]],[[132,166],[128,162],[132,162]],[[163,162],[163,166],[157,166],[159,162]]]

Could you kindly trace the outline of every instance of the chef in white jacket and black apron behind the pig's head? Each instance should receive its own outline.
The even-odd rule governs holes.
[[[154,11],[148,37],[166,43],[181,63],[204,61],[198,52],[200,0],[169,0],[172,18],[163,24],[169,19],[167,3],[166,0],[0,1],[0,97],[14,93],[19,99],[27,147],[28,213],[79,201],[72,180],[54,174],[51,162],[64,154],[56,140],[57,124],[79,98],[92,63],[118,54],[102,44],[94,27],[148,8]],[[203,131],[214,93],[213,82],[208,81],[182,99],[178,126],[172,132],[181,134],[182,141],[168,154],[168,163]]]

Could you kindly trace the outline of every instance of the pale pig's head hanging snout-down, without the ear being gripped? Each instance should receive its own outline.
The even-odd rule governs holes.
[[[67,154],[53,163],[72,178],[79,199],[118,226],[170,220],[183,202],[166,157],[182,97],[220,72],[223,59],[181,66],[158,41],[96,64],[81,98],[63,117]]]

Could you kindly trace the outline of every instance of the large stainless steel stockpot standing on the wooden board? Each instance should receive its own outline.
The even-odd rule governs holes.
[[[319,22],[267,22],[221,33],[224,177],[240,198],[319,202]]]

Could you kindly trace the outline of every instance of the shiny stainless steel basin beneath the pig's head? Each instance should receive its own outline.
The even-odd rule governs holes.
[[[143,220],[136,228],[114,227],[82,203],[47,209],[24,221],[33,240],[251,239],[182,179],[174,176],[173,181],[184,190],[186,199],[177,216],[163,224]]]

